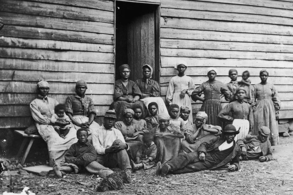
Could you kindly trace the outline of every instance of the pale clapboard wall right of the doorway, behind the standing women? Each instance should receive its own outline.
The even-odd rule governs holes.
[[[230,81],[228,71],[269,71],[281,99],[280,119],[293,118],[293,1],[161,0],[161,95],[177,74],[174,63],[185,60],[186,74],[196,86],[208,80],[206,68],[216,66],[217,80]],[[241,80],[241,76],[238,77]],[[224,98],[222,99],[224,100]],[[202,102],[193,103],[193,112]],[[226,103],[223,103],[223,106]]]

